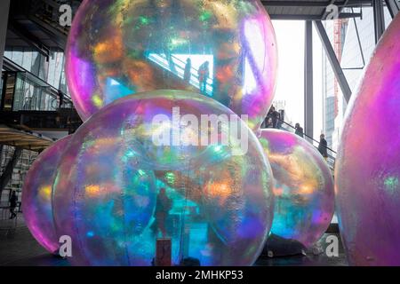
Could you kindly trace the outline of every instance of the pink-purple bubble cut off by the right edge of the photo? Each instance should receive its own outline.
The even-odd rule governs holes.
[[[400,265],[400,14],[348,105],[335,169],[348,261]]]

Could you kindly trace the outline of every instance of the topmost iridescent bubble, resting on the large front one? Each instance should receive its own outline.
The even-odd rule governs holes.
[[[248,114],[255,130],[272,103],[276,59],[274,28],[259,0],[85,0],[66,70],[83,120],[126,95],[175,89]]]

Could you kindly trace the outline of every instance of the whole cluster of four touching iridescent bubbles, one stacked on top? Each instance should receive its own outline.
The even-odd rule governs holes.
[[[66,66],[84,124],[26,178],[36,240],[57,253],[70,236],[76,265],[157,264],[162,239],[172,264],[251,265],[270,233],[313,245],[332,173],[304,139],[253,132],[276,59],[259,0],[85,0]]]

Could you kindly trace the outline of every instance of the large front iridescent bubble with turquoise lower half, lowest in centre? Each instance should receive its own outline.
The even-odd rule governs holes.
[[[72,236],[73,264],[151,265],[164,237],[172,264],[249,265],[272,223],[258,139],[226,106],[187,91],[136,94],[93,114],[57,180],[54,217]]]

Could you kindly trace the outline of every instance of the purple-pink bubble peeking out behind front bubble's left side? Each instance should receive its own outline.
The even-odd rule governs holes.
[[[71,136],[62,138],[40,154],[22,187],[22,212],[30,233],[46,250],[58,254],[59,238],[52,217],[52,183],[61,155]]]

